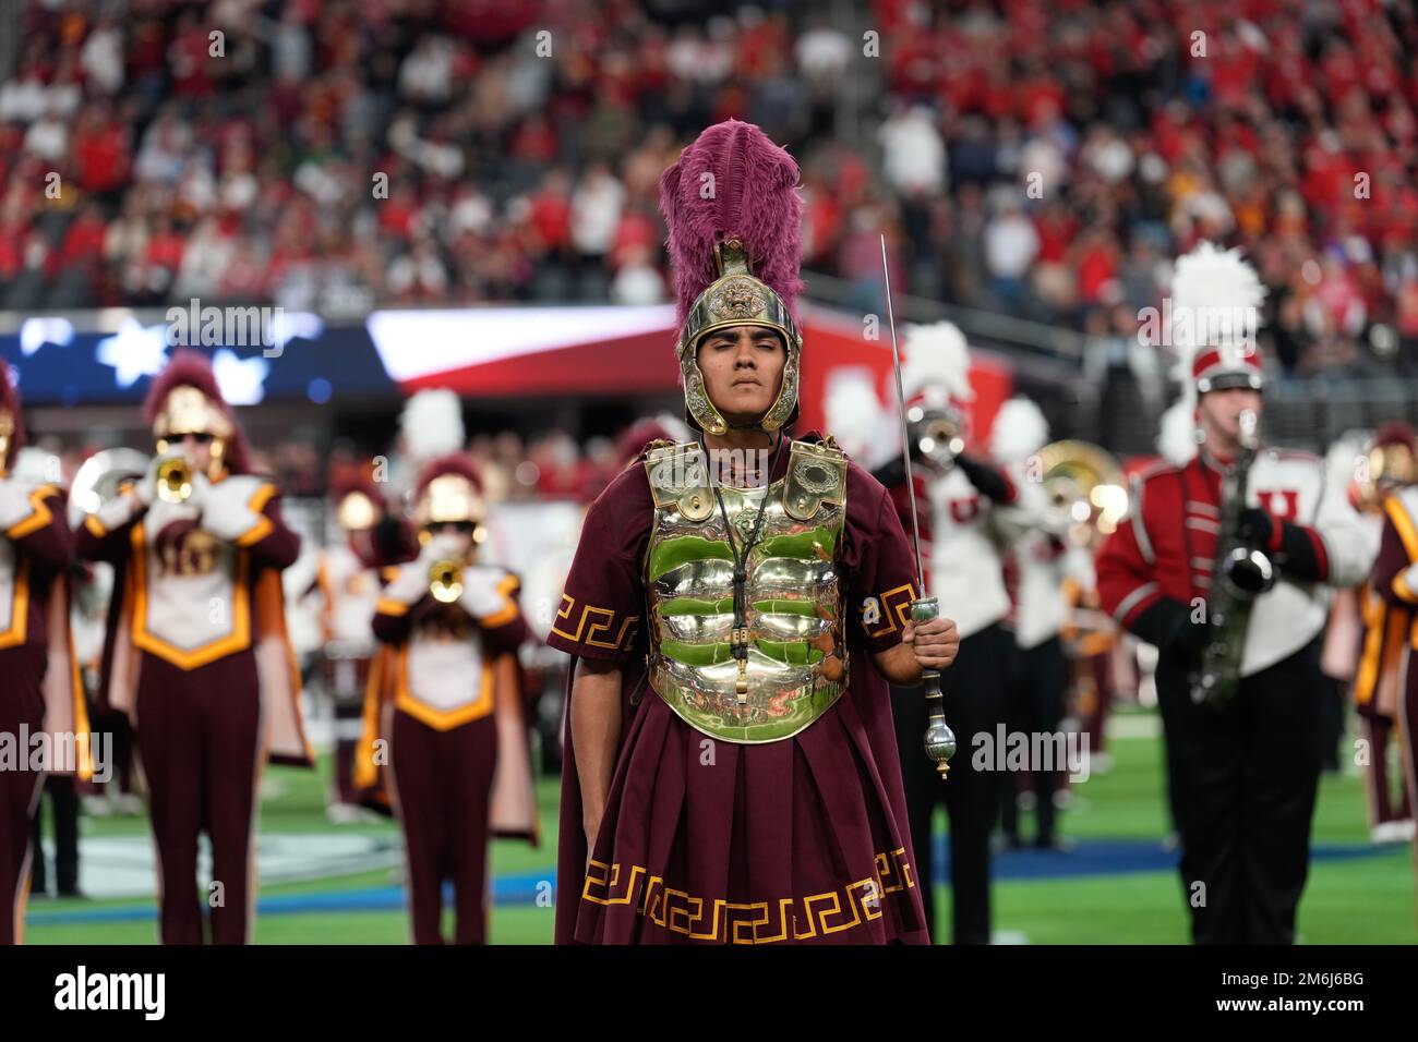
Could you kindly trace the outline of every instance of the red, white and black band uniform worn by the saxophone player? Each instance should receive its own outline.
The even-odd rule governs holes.
[[[1217,252],[1202,247],[1195,257],[1210,264]],[[1232,284],[1255,281],[1239,258],[1224,257],[1222,265],[1242,268]],[[1188,264],[1178,264],[1176,310],[1195,306],[1181,285]],[[1191,377],[1198,394],[1259,391],[1262,383],[1254,344],[1235,340],[1197,350]],[[1358,581],[1373,550],[1347,482],[1327,479],[1317,456],[1262,448],[1242,527],[1276,563],[1278,581],[1255,601],[1239,693],[1225,707],[1195,705],[1191,675],[1208,632],[1198,612],[1212,581],[1227,466],[1202,445],[1184,465],[1163,462],[1137,476],[1132,516],[1098,559],[1099,595],[1123,628],[1159,649],[1168,794],[1194,940],[1288,944],[1322,764],[1327,587]]]

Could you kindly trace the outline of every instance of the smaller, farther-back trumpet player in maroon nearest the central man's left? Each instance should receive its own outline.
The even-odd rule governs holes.
[[[430,461],[414,488],[423,550],[386,568],[377,655],[354,783],[404,832],[415,944],[442,943],[452,879],[457,944],[488,933],[488,838],[537,838],[518,648],[529,632],[518,578],[476,563],[482,485],[462,455]],[[383,770],[387,768],[387,770]]]

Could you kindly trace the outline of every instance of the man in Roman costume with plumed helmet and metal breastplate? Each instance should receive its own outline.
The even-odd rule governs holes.
[[[657,445],[591,505],[549,638],[574,656],[559,943],[927,940],[886,680],[954,641],[908,618],[886,491],[830,438],[783,437],[797,183],[733,119],[661,179],[702,441]]]

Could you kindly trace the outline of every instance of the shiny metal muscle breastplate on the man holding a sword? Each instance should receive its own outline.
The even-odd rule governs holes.
[[[847,688],[837,566],[847,456],[830,439],[794,441],[786,475],[766,489],[720,485],[722,512],[702,445],[652,448],[645,474],[655,502],[644,564],[651,686],[715,739],[760,744],[797,734]],[[744,561],[740,631],[733,546],[749,542],[759,510],[767,513]]]

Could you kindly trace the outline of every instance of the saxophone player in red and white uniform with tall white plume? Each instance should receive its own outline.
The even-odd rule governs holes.
[[[1159,649],[1168,790],[1198,944],[1295,939],[1322,761],[1329,588],[1358,581],[1374,554],[1344,482],[1326,481],[1322,459],[1251,445],[1263,407],[1254,342],[1263,293],[1235,250],[1202,242],[1177,262],[1173,313],[1190,329],[1173,339],[1191,353],[1180,408],[1193,413],[1200,451],[1139,476],[1130,520],[1098,560],[1105,608]],[[1224,498],[1224,486],[1242,482],[1244,502]],[[1235,544],[1239,563],[1218,568],[1218,544]],[[1245,597],[1234,591],[1263,588],[1266,574],[1273,586],[1254,597],[1241,631],[1244,608],[1232,604]],[[1227,655],[1238,663],[1205,672]]]

